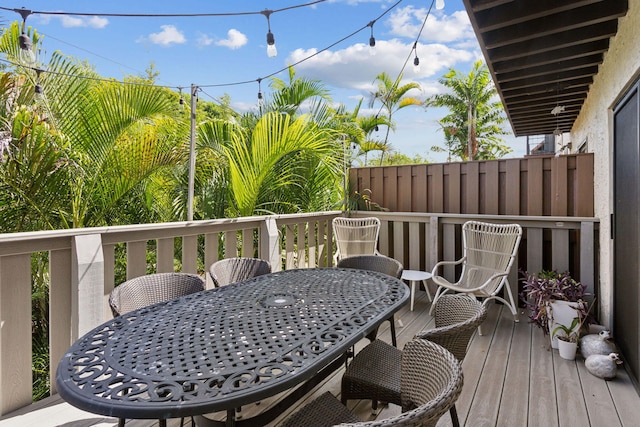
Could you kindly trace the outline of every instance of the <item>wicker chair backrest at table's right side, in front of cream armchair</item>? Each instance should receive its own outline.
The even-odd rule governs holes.
[[[442,295],[435,304],[436,327],[422,331],[416,337],[440,344],[462,362],[471,337],[487,317],[487,307],[461,294]]]

